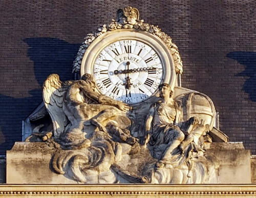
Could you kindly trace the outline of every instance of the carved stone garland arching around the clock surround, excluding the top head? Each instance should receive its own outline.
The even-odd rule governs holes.
[[[135,30],[146,31],[150,34],[158,36],[165,43],[165,45],[170,50],[170,53],[172,53],[172,55],[173,55],[176,73],[182,74],[183,64],[182,64],[182,61],[180,58],[178,47],[175,45],[175,43],[173,43],[172,38],[170,36],[168,36],[167,34],[165,34],[164,32],[162,32],[161,29],[158,28],[158,26],[143,23],[143,20],[140,20],[138,23],[136,23],[133,26],[125,26],[125,25],[118,23],[114,19],[112,19],[112,20],[113,20],[113,22],[111,24],[101,26],[100,28],[98,28],[96,30],[95,33],[87,34],[87,36],[84,38],[85,41],[79,47],[78,53],[73,62],[73,71],[72,71],[73,73],[80,72],[83,55],[86,52],[86,50],[88,49],[88,47],[91,45],[91,43],[98,36],[108,32],[108,31],[115,31],[118,29],[135,29]]]

